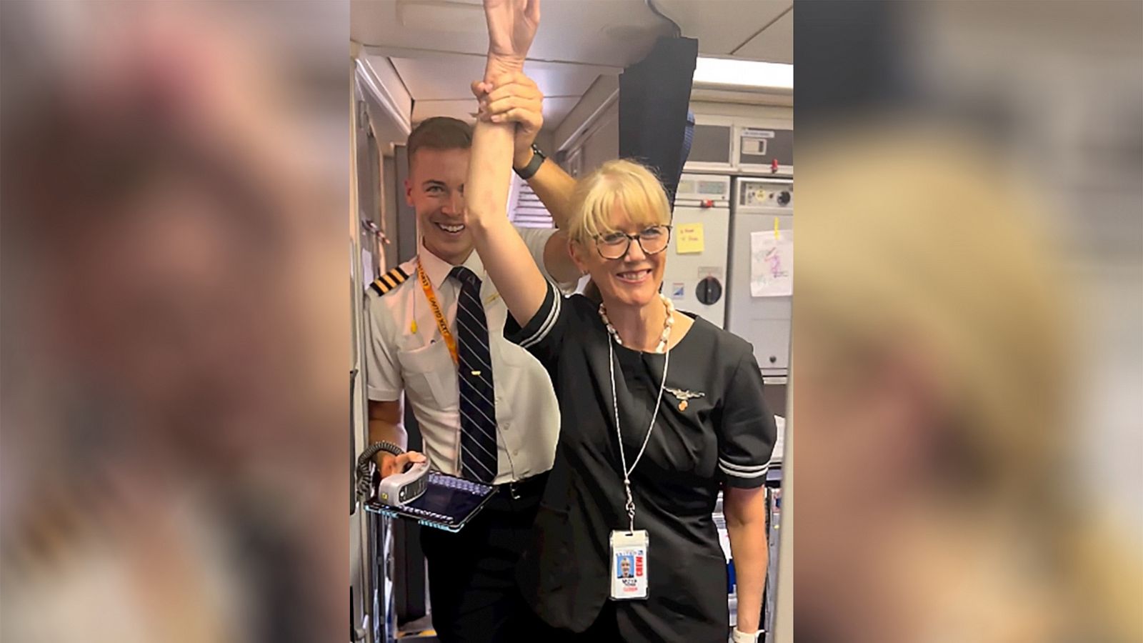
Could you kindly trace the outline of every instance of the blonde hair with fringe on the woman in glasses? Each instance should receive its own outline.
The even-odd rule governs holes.
[[[663,184],[642,165],[609,160],[581,178],[572,192],[572,221],[568,235],[585,244],[600,235],[614,232],[612,214],[617,209],[637,225],[665,225],[671,222],[671,206]]]

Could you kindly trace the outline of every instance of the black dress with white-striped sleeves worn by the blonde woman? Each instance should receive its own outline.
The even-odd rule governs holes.
[[[505,336],[547,367],[562,422],[518,580],[544,621],[583,632],[609,600],[609,534],[628,527],[609,338],[598,304],[582,295],[563,299],[551,286],[535,317],[523,328],[510,319]],[[617,344],[614,350],[630,466],[647,435],[664,356]],[[774,416],[762,403],[751,346],[702,318],[671,349],[666,387],[646,453],[631,474],[636,529],[649,532],[649,596],[615,602],[604,618],[615,619],[624,641],[721,642],[729,627],[727,571],[711,514],[721,485],[764,484]],[[697,394],[680,408],[680,398]]]

